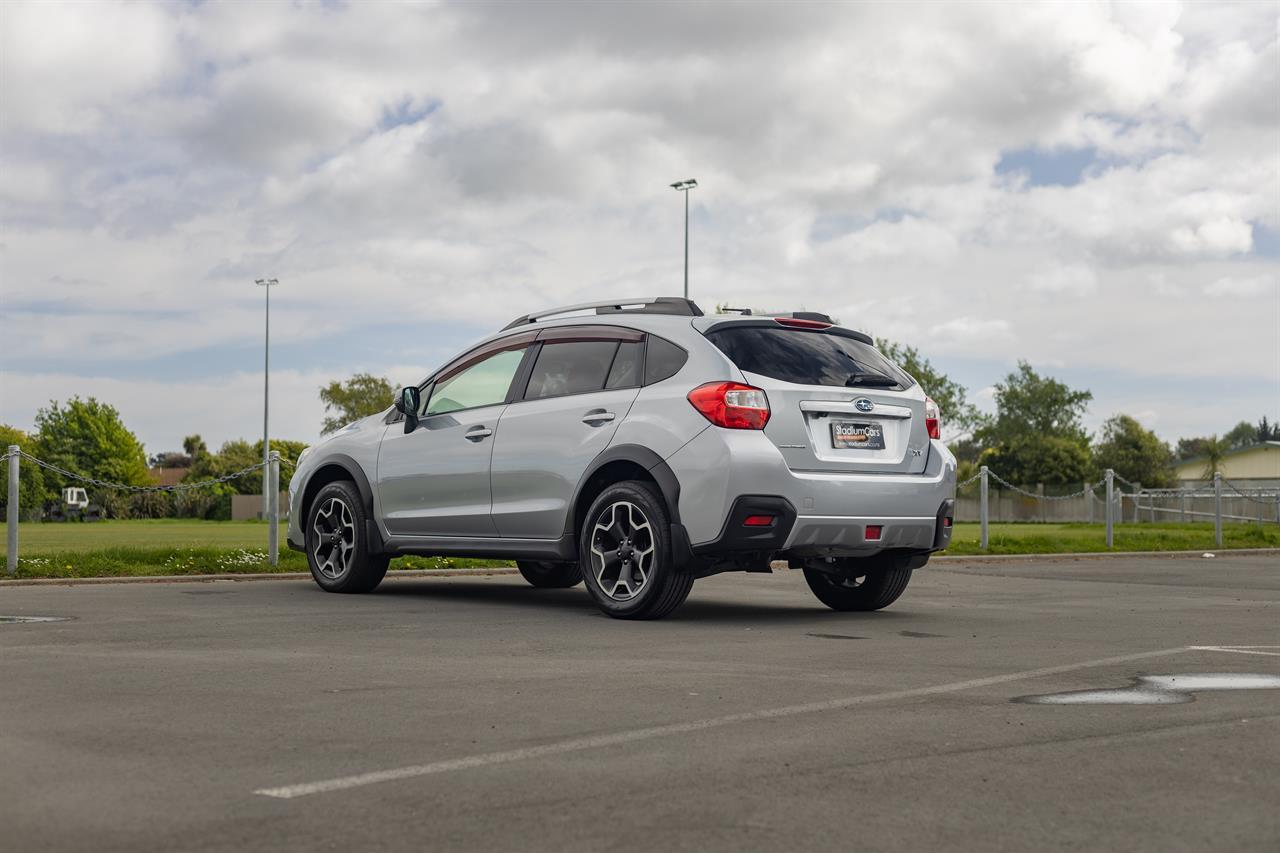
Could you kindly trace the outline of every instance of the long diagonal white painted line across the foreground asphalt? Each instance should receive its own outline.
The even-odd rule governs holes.
[[[632,729],[631,731],[616,731],[613,734],[593,735],[589,738],[575,738],[572,740],[558,740],[540,747],[526,747],[524,749],[509,749],[507,752],[489,752],[477,756],[465,756],[462,758],[449,758],[445,761],[433,761],[426,765],[411,765],[408,767],[394,767],[392,770],[375,770],[355,776],[339,776],[337,779],[324,779],[314,783],[297,785],[284,785],[283,788],[260,788],[255,794],[262,797],[275,797],[278,799],[294,799],[297,797],[310,797],[311,794],[324,794],[334,790],[347,790],[364,785],[376,785],[379,783],[396,781],[399,779],[415,779],[417,776],[431,776],[447,774],[454,770],[470,770],[472,767],[488,767],[492,765],[506,765],[513,761],[527,761],[544,756],[561,756],[585,749],[602,749],[617,747],[639,740],[653,740],[673,735],[689,734],[690,731],[705,731],[721,726],[736,725],[741,722],[754,722],[756,720],[776,720],[778,717],[792,717],[801,713],[818,713],[820,711],[838,711],[859,704],[873,702],[893,702],[896,699],[913,699],[923,695],[937,695],[940,693],[956,693],[959,690],[973,690],[975,688],[989,686],[992,684],[1007,684],[1009,681],[1021,681],[1044,675],[1057,675],[1074,670],[1085,670],[1094,666],[1111,666],[1115,663],[1129,663],[1152,657],[1167,657],[1187,652],[1192,646],[1179,646],[1178,648],[1162,648],[1155,652],[1139,652],[1137,654],[1120,654],[1117,657],[1103,657],[1094,661],[1082,661],[1079,663],[1064,663],[1061,666],[1046,666],[1037,670],[1023,670],[1006,675],[992,675],[982,679],[969,679],[968,681],[952,681],[934,686],[910,688],[906,690],[890,690],[888,693],[870,693],[867,695],[851,695],[840,699],[826,699],[823,702],[809,702],[805,704],[791,704],[781,708],[763,708],[760,711],[744,711],[742,713],[730,713],[722,717],[709,717],[707,720],[691,720],[689,722],[673,722],[664,726],[650,726],[648,729]]]

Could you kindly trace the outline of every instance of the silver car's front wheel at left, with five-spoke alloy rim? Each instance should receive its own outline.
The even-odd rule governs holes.
[[[311,501],[303,542],[320,589],[366,593],[383,581],[390,557],[369,553],[366,520],[364,501],[349,480],[325,485]]]

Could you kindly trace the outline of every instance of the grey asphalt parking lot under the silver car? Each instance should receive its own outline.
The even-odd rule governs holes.
[[[518,576],[9,587],[69,620],[0,624],[4,847],[1275,850],[1280,689],[1027,697],[1280,675],[1277,564],[934,564],[854,615],[722,575],[659,622]]]

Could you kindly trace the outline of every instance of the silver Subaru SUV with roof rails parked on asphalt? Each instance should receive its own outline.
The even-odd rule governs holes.
[[[940,412],[822,314],[650,297],[521,316],[308,448],[289,546],[329,592],[399,555],[515,560],[655,619],[698,578],[785,560],[841,611],[897,599],[951,539]]]

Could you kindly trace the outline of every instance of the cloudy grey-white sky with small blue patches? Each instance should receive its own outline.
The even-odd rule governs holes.
[[[0,3],[0,421],[319,432],[517,314],[826,310],[989,405],[1280,416],[1280,4]]]

